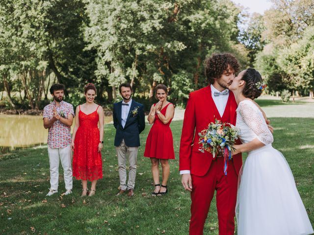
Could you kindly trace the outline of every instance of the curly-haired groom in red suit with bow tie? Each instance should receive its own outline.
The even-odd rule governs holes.
[[[191,92],[184,113],[180,144],[180,174],[183,187],[191,192],[190,235],[203,235],[210,202],[216,190],[219,235],[234,235],[237,178],[242,165],[241,154],[229,161],[224,175],[224,160],[213,158],[201,148],[198,133],[215,118],[235,125],[235,96],[228,90],[239,64],[229,53],[213,54],[205,60],[209,86]]]

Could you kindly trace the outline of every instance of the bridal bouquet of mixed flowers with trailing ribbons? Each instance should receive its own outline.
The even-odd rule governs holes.
[[[223,151],[225,175],[227,175],[228,161],[231,159],[231,150],[235,149],[232,145],[237,140],[238,132],[238,128],[234,125],[215,119],[215,122],[210,122],[206,129],[198,133],[199,143],[202,144],[199,151],[211,152],[213,158]]]

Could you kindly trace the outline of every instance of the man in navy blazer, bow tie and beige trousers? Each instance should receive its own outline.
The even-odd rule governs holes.
[[[134,195],[137,150],[140,146],[139,134],[145,129],[144,105],[132,100],[130,83],[119,86],[122,101],[113,105],[113,125],[116,128],[114,146],[118,157],[120,187],[117,196],[128,190]],[[129,180],[127,182],[126,159],[129,155]]]

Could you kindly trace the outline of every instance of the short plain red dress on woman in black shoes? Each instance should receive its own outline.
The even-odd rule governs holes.
[[[163,107],[160,113],[165,115],[169,104]],[[155,105],[156,104],[154,104],[154,106]],[[156,114],[154,124],[147,136],[144,157],[175,159],[170,123],[171,120],[167,124],[163,124]]]

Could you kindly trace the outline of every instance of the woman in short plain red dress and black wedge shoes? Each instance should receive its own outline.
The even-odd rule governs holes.
[[[157,104],[153,104],[148,121],[153,124],[145,145],[144,156],[151,158],[152,174],[155,184],[154,196],[168,192],[167,181],[170,173],[168,159],[175,159],[170,123],[174,115],[174,106],[167,101],[168,89],[165,85],[156,86]],[[162,183],[159,183],[159,162],[162,168]]]

